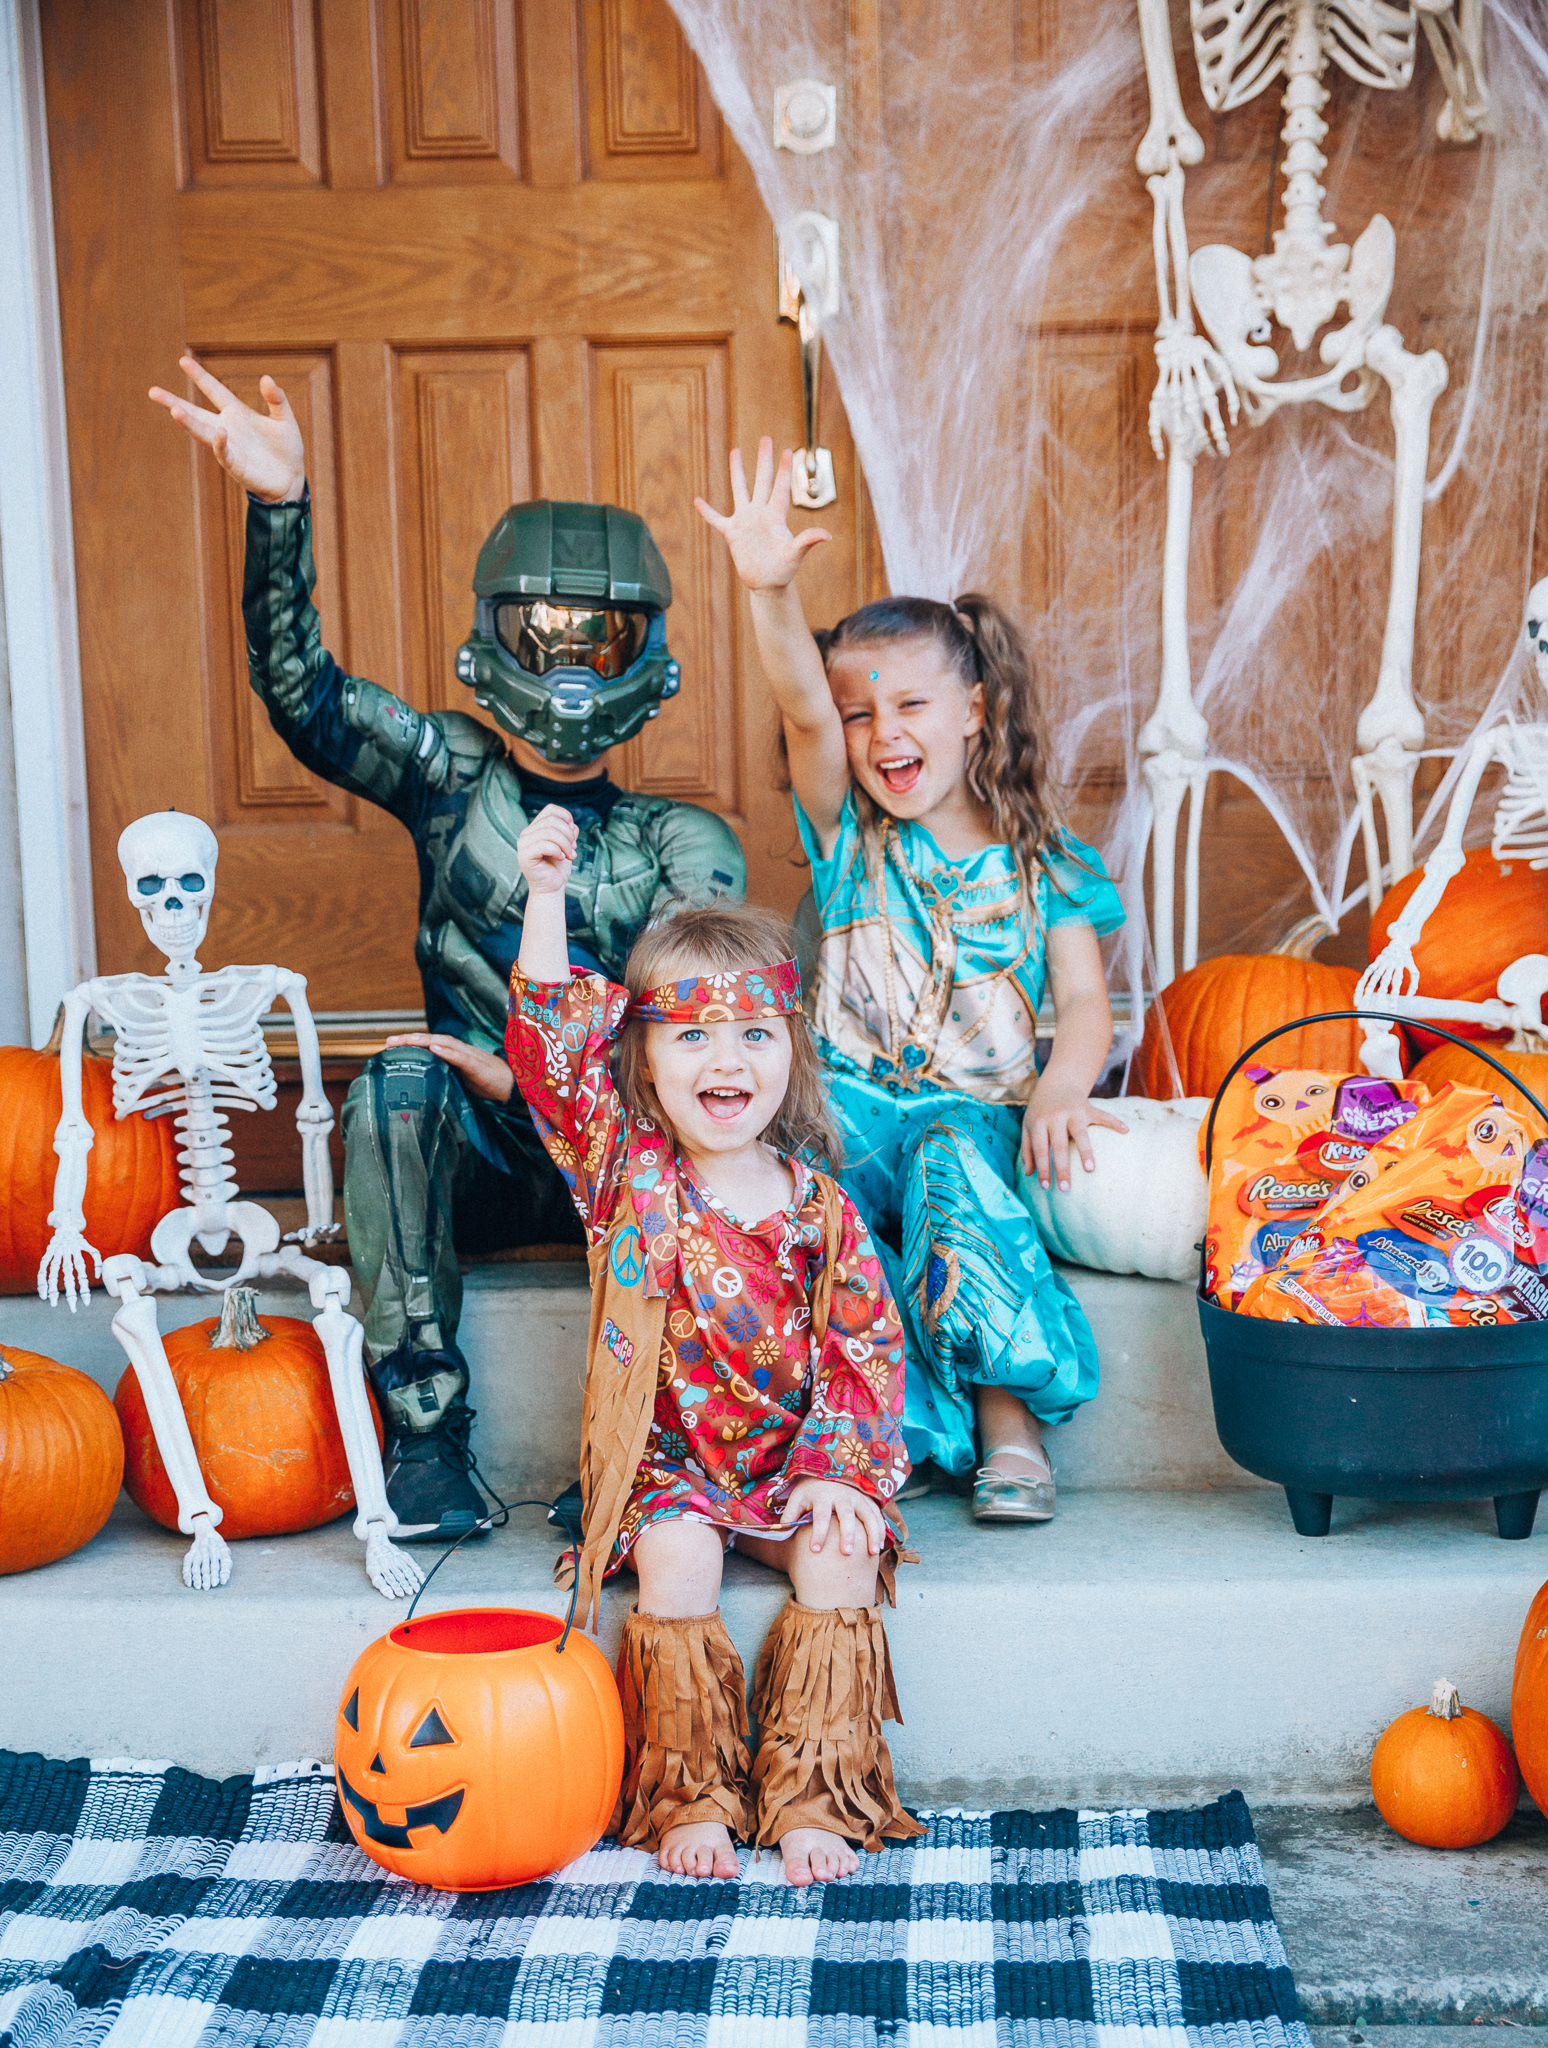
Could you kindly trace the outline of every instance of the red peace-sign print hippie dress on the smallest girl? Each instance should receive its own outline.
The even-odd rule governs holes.
[[[700,983],[704,1001],[715,979]],[[692,989],[684,983],[684,1001]],[[625,1278],[620,1257],[635,1260],[645,1290],[668,1296],[655,1411],[608,1573],[651,1522],[686,1516],[731,1534],[788,1536],[780,1513],[799,1479],[858,1487],[885,1509],[909,1473],[903,1327],[858,1210],[844,1200],[827,1331],[813,1346],[817,1178],[788,1159],[792,1204],[756,1223],[733,1217],[620,1100],[608,1053],[627,1008],[629,991],[600,975],[532,983],[518,969],[506,1038],[588,1243],[606,1239],[627,1182],[637,1237],[616,1241],[614,1278]]]

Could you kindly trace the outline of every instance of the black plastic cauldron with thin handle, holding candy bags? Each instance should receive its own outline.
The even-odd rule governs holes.
[[[1249,1044],[1216,1090],[1204,1133],[1214,1153],[1220,1096],[1247,1061],[1302,1024],[1380,1018],[1380,1010],[1325,1010]],[[1485,1047],[1464,1047],[1548,1110]],[[1548,1323],[1497,1329],[1331,1329],[1265,1323],[1204,1296],[1198,1321],[1210,1362],[1214,1427],[1249,1473],[1284,1487],[1300,1536],[1327,1536],[1333,1497],[1366,1501],[1476,1501],[1493,1495],[1501,1536],[1532,1534],[1548,1485]]]

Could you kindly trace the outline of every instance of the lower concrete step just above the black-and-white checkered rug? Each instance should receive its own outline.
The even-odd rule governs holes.
[[[923,1804],[1368,1798],[1376,1735],[1437,1675],[1507,1720],[1548,1577],[1548,1532],[1503,1544],[1487,1503],[1341,1503],[1325,1540],[1257,1487],[1071,1491],[1042,1528],[979,1528],[954,1495],[909,1505],[923,1561],[889,1616],[907,1716],[893,1741]],[[330,1755],[350,1663],[403,1610],[371,1591],[348,1522],[233,1552],[229,1587],[188,1593],[182,1540],[125,1501],[86,1550],[0,1581],[0,1743],[211,1774]],[[422,1612],[561,1612],[555,1552],[522,1511],[453,1556]],[[778,1575],[729,1561],[749,1671],[784,1597]],[[629,1599],[608,1593],[610,1655]]]

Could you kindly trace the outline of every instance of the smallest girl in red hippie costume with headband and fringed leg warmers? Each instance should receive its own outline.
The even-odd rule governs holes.
[[[582,1606],[629,1565],[622,1843],[792,1884],[852,1843],[919,1833],[893,1788],[899,1718],[876,1595],[905,1536],[903,1331],[831,1155],[788,932],[747,909],[647,928],[625,973],[571,975],[567,811],[516,842],[528,885],[506,1057],[569,1182],[592,1262]],[[790,1575],[754,1677],[719,1614],[727,1544]]]

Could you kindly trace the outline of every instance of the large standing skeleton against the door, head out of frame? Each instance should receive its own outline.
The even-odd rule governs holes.
[[[1327,123],[1323,74],[1329,61],[1366,86],[1390,92],[1413,78],[1419,29],[1435,53],[1446,84],[1437,131],[1448,141],[1474,141],[1493,125],[1482,82],[1482,0],[1190,0],[1194,55],[1204,98],[1214,113],[1245,106],[1276,78],[1284,90],[1284,227],[1272,256],[1245,256],[1212,246],[1188,254],[1184,168],[1198,164],[1204,143],[1177,92],[1167,0],[1136,0],[1151,125],[1138,147],[1138,168],[1155,201],[1155,272],[1161,305],[1151,397],[1151,444],[1167,457],[1167,539],[1161,582],[1161,690],[1138,748],[1155,815],[1153,891],[1155,956],[1165,985],[1173,975],[1173,858],[1184,795],[1188,860],[1184,883],[1184,967],[1198,954],[1198,840],[1208,780],[1208,725],[1188,664],[1188,530],[1194,463],[1229,455],[1231,422],[1245,406],[1261,426],[1280,406],[1319,403],[1331,412],[1370,406],[1378,381],[1392,401],[1396,442],[1392,485],[1392,586],[1376,690],[1360,715],[1351,764],[1360,799],[1366,862],[1380,874],[1372,795],[1382,801],[1390,874],[1413,864],[1413,774],[1425,741],[1423,713],[1413,700],[1413,623],[1419,594],[1419,528],[1423,520],[1429,414],[1446,389],[1446,358],[1403,346],[1384,324],[1396,268],[1396,244],[1384,215],[1347,248],[1329,246],[1333,227],[1321,215],[1327,166],[1319,143]],[[1347,322],[1329,328],[1339,307]],[[1194,328],[1194,311],[1204,334]],[[1290,330],[1298,350],[1323,330],[1315,377],[1274,383],[1280,358],[1270,344],[1274,326]],[[1208,336],[1208,338],[1206,338]],[[1351,381],[1353,379],[1353,381]],[[1347,385],[1347,389],[1345,389]]]

